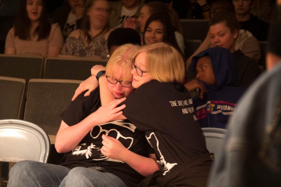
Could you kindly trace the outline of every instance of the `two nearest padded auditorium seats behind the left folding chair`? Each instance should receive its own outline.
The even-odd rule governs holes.
[[[60,126],[60,114],[71,103],[80,80],[25,79],[0,76],[0,119],[23,119],[42,127],[51,143]],[[25,97],[25,84],[28,84]]]

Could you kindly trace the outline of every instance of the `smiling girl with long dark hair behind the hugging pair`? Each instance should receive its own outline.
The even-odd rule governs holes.
[[[165,42],[174,46],[181,52],[175,39],[174,30],[169,16],[164,13],[156,13],[151,15],[145,23],[143,44],[153,44],[157,42]],[[182,52],[181,52],[182,53]],[[182,53],[183,54],[183,53]]]

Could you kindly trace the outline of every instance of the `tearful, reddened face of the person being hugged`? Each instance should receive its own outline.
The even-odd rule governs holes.
[[[128,70],[128,73],[130,73],[130,70]],[[116,69],[114,75],[111,78],[116,79],[116,80],[123,80],[123,77],[124,76],[121,75],[120,67],[118,67]],[[132,79],[133,78],[131,78],[130,80],[127,80],[127,81],[132,82]],[[116,84],[111,84],[111,83],[107,82],[107,86],[108,86],[108,89],[110,90],[110,92],[114,95],[114,97],[116,99],[128,97],[129,95],[131,95],[131,93],[133,91],[135,91],[134,87],[131,87],[131,88],[123,87],[123,86],[121,86],[120,82],[117,82]]]

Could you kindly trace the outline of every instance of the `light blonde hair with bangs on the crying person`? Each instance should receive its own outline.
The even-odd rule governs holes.
[[[112,77],[116,70],[121,73],[122,81],[131,81],[132,79],[132,56],[140,48],[133,44],[119,46],[111,55],[106,65],[106,76]]]

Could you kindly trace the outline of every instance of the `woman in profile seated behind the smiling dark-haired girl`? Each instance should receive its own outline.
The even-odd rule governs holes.
[[[175,31],[175,39],[178,43],[178,46],[180,47],[181,52],[185,53],[185,42],[183,37],[183,28],[180,24],[179,17],[175,10],[173,10],[171,7],[169,9],[165,6],[162,2],[148,2],[141,8],[140,17],[138,18],[130,18],[127,19],[125,22],[124,27],[129,27],[136,29],[137,31],[140,29],[140,32],[144,33],[145,23],[147,19],[155,13],[163,13],[169,15],[169,19],[171,20],[173,29]],[[137,24],[139,24],[139,29],[137,28]],[[142,35],[141,34],[141,35]]]

